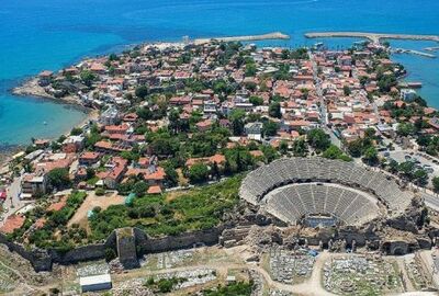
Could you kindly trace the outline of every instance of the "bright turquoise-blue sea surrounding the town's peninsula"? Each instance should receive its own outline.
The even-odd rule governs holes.
[[[312,45],[318,41],[307,41],[303,34],[313,31],[439,35],[439,1],[2,0],[0,147],[26,144],[31,137],[56,137],[85,118],[71,106],[10,94],[13,86],[43,69],[57,70],[85,56],[121,50],[139,42],[272,31],[290,34],[292,39],[264,45]],[[352,41],[324,42],[340,48]],[[421,49],[435,44],[392,45]],[[439,58],[395,58],[408,69],[409,80],[424,82],[421,95],[439,107]]]

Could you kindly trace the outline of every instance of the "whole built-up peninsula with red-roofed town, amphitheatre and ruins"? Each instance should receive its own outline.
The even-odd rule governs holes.
[[[0,294],[437,289],[439,112],[391,57],[225,37],[40,72],[15,92],[98,114],[0,172]]]

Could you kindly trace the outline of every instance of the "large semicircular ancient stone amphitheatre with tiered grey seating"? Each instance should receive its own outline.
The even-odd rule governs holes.
[[[240,196],[289,225],[361,226],[402,215],[414,194],[353,162],[284,158],[250,172]]]

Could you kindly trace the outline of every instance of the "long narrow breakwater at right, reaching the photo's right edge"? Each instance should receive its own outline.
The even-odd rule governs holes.
[[[306,38],[328,38],[328,37],[353,37],[367,38],[378,44],[381,39],[410,39],[410,41],[434,41],[439,42],[438,35],[410,35],[410,34],[381,34],[365,32],[316,32],[306,33]]]

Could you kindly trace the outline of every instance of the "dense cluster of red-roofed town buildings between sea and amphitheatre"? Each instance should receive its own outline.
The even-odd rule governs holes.
[[[23,156],[27,167],[20,198],[50,193],[55,169],[68,171],[78,189],[116,190],[135,177],[147,183],[145,193],[160,194],[167,178],[160,161],[170,156],[151,149],[146,132],[171,128],[173,111],[179,126],[172,128],[181,132],[181,126],[189,126],[189,138],[214,126],[233,132],[227,148],[254,141],[274,148],[284,141],[291,147],[317,127],[333,129],[346,143],[371,127],[392,136],[401,118],[384,106],[410,104],[417,95],[392,83],[404,70],[383,53],[376,44],[337,52],[154,44],[82,60],[56,73],[43,71],[38,84],[47,93],[70,95],[100,115],[58,141],[34,140],[32,151]],[[237,112],[245,114],[238,132]],[[435,118],[429,122],[432,130],[439,126]],[[267,122],[275,124],[274,133],[266,130]],[[254,157],[261,153],[251,150]],[[184,171],[195,163],[225,162],[225,155],[216,150],[185,156],[179,166]],[[3,195],[0,192],[0,198]]]

